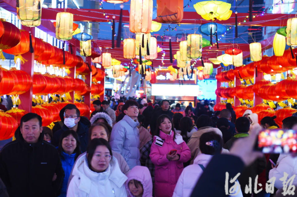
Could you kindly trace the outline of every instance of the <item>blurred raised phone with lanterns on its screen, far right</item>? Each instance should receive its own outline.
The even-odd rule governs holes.
[[[263,153],[296,153],[297,131],[285,129],[265,129],[258,135],[258,148]]]

